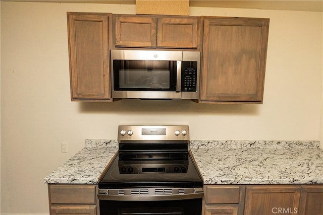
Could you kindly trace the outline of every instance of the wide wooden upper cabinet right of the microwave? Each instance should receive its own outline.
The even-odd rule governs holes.
[[[202,17],[201,103],[262,104],[269,19]]]

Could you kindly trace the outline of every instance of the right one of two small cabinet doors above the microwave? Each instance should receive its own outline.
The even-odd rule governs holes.
[[[157,21],[158,48],[198,48],[199,18],[158,18]]]

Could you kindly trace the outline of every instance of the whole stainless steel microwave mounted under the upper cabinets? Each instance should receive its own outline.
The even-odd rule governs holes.
[[[200,52],[111,50],[112,98],[198,99]]]

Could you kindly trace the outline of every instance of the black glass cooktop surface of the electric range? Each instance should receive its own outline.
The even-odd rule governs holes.
[[[99,188],[133,186],[202,187],[190,151],[117,152],[99,178]]]

